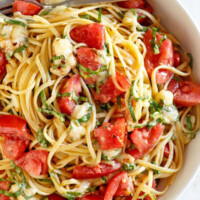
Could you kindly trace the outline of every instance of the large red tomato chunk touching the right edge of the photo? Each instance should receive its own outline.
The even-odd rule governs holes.
[[[174,103],[177,106],[195,106],[200,103],[200,85],[191,81],[171,80],[168,90],[174,94]]]

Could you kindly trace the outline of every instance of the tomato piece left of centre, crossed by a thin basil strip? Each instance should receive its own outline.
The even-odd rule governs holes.
[[[81,81],[79,75],[73,75],[68,80],[66,80],[61,87],[60,93],[76,93],[78,96],[82,91]],[[71,97],[59,97],[58,98],[59,107],[62,113],[71,114],[74,111],[76,102],[71,99]]]

